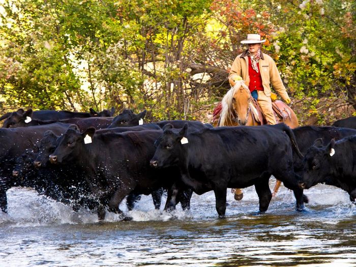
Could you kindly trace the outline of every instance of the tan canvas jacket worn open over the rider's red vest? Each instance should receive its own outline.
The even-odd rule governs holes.
[[[247,57],[247,50],[242,54],[236,56],[234,62],[231,65],[231,70],[229,73],[229,78],[234,74],[237,74],[242,77],[248,86],[250,83],[249,77],[249,60]],[[285,101],[288,98],[288,94],[283,85],[281,76],[277,70],[276,63],[268,54],[261,53],[259,60],[259,70],[261,72],[262,77],[262,85],[264,89],[264,94],[268,97],[271,97],[271,86],[272,83],[273,88],[281,98]]]

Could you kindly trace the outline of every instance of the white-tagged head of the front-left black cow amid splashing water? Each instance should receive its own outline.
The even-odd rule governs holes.
[[[52,164],[69,163],[74,158],[81,158],[83,146],[88,144],[86,140],[92,139],[95,131],[94,127],[89,127],[81,133],[74,126],[70,126],[67,132],[57,139],[57,147],[49,155],[50,162]]]

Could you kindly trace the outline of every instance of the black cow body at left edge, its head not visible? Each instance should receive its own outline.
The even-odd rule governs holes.
[[[17,182],[12,176],[16,159],[26,149],[34,147],[47,130],[61,134],[67,128],[68,124],[63,123],[15,129],[0,128],[0,207],[3,212],[7,212],[6,191],[16,186]]]

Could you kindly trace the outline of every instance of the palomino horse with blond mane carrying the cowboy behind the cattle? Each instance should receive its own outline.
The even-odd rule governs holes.
[[[257,101],[253,99],[249,88],[244,81],[237,81],[236,84],[226,93],[219,105],[214,110],[214,126],[257,126],[263,124],[262,112],[256,107]],[[277,110],[280,116],[276,115],[277,123],[285,123],[290,128],[299,126],[298,118],[294,111],[284,102],[275,101],[274,110]],[[220,114],[218,109],[221,108]],[[277,180],[273,195],[275,196],[281,182]],[[241,189],[236,189],[236,193],[241,195]]]

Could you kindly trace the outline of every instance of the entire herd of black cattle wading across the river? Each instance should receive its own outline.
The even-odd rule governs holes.
[[[274,175],[292,190],[303,211],[304,189],[325,183],[356,198],[356,117],[333,126],[290,129],[274,126],[213,128],[197,121],[143,123],[146,111],[90,113],[18,109],[0,117],[0,206],[6,191],[32,187],[74,211],[122,213],[127,196],[132,210],[140,194],[152,194],[159,209],[181,203],[192,193],[214,191],[216,210],[225,216],[227,188],[254,185],[259,212],[268,209]],[[351,129],[353,128],[353,129]],[[123,217],[125,220],[129,217]]]

